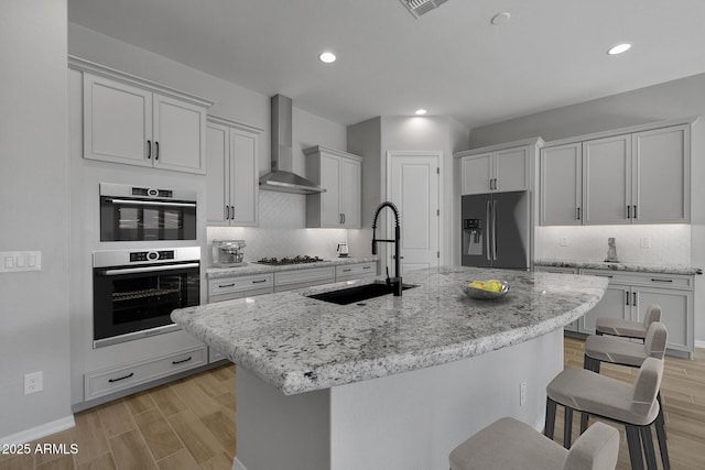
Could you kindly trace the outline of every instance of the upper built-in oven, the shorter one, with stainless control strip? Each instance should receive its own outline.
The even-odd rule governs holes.
[[[100,193],[100,241],[196,240],[195,194],[104,184]]]

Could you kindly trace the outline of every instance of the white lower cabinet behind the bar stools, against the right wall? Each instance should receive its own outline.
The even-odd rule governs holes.
[[[581,270],[582,274],[608,276],[605,296],[582,319],[581,332],[595,334],[597,317],[616,317],[641,321],[651,304],[662,309],[661,321],[669,331],[671,351],[693,354],[694,307],[693,276],[655,273],[608,273],[603,270]]]

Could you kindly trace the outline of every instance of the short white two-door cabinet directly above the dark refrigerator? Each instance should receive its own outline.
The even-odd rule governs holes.
[[[531,162],[542,142],[531,139],[456,153],[460,159],[460,194],[531,189]]]

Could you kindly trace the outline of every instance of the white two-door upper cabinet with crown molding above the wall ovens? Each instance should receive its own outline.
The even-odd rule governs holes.
[[[206,173],[212,102],[75,57],[84,75],[84,157]]]

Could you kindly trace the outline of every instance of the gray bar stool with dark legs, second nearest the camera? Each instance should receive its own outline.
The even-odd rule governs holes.
[[[647,466],[657,469],[657,458],[651,437],[651,425],[657,420],[661,406],[657,400],[663,360],[647,358],[633,384],[600,375],[593,371],[567,368],[546,386],[546,425],[544,434],[553,439],[556,404],[565,408],[564,447],[571,448],[573,411],[623,424],[631,468],[643,469],[641,449]]]

